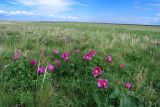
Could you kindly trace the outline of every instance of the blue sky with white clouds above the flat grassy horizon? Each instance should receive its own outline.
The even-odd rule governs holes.
[[[160,25],[160,0],[0,0],[0,20]]]

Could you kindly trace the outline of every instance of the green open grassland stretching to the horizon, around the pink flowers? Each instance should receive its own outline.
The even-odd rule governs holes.
[[[86,61],[90,50],[96,55]],[[69,60],[61,58],[63,52]],[[44,74],[37,73],[39,66]],[[102,70],[98,77],[92,74],[96,66]],[[101,78],[107,87],[98,88]],[[160,106],[160,27],[0,22],[0,107],[70,106]]]

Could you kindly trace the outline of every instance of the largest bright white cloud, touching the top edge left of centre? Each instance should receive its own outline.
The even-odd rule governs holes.
[[[32,8],[37,15],[59,14],[71,10],[73,5],[82,5],[73,0],[16,0],[16,2]]]

